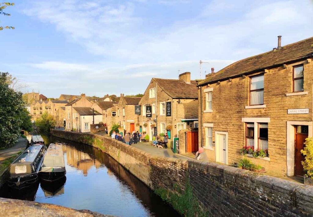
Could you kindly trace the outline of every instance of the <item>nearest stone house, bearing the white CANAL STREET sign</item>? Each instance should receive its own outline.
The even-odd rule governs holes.
[[[199,146],[210,161],[248,158],[268,172],[303,176],[313,134],[313,37],[239,60],[198,81]],[[254,158],[244,146],[268,152]]]

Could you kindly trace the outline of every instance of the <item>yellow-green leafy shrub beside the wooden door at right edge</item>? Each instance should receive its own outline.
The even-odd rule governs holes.
[[[313,137],[306,138],[304,144],[305,147],[301,150],[301,153],[305,156],[305,160],[301,163],[306,172],[306,176],[313,177]]]

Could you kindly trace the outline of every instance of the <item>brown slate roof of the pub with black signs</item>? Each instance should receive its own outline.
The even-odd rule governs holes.
[[[194,80],[187,84],[183,80],[152,78],[167,93],[175,99],[198,99],[197,82]]]

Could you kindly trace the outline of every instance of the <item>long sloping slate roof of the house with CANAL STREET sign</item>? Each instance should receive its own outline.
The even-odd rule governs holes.
[[[262,71],[280,64],[306,59],[313,56],[313,37],[283,46],[280,50],[251,56],[209,74],[199,85],[222,81],[243,74]]]

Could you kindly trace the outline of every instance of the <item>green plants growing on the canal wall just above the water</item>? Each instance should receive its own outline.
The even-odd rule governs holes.
[[[200,209],[197,199],[193,196],[192,187],[189,181],[186,183],[185,191],[174,184],[174,190],[178,193],[173,193],[165,188],[156,189],[155,193],[159,195],[162,200],[171,204],[183,216],[208,216],[207,212]]]

